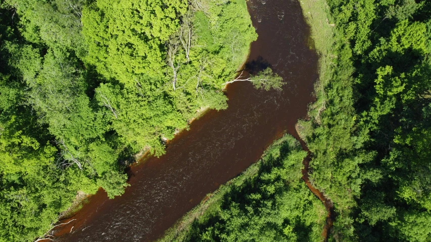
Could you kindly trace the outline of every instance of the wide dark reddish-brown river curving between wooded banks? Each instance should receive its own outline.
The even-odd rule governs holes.
[[[248,7],[259,37],[246,67],[257,72],[270,66],[287,83],[283,91],[229,84],[226,110],[208,111],[168,142],[165,155],[132,166],[130,187],[121,197],[108,199],[103,190],[90,197],[62,221],[75,219],[55,231],[59,241],[157,239],[208,193],[257,161],[285,131],[299,138],[295,124],[306,116],[318,78],[318,56],[307,46],[301,7],[296,0],[250,0]]]

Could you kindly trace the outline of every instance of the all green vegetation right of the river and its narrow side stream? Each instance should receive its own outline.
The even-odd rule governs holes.
[[[298,130],[330,241],[431,240],[431,2],[302,0],[320,55]]]

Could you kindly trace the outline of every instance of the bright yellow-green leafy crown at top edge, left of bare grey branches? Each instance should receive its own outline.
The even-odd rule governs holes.
[[[139,75],[162,75],[164,42],[177,31],[186,8],[182,0],[96,1],[82,17],[87,61],[106,78],[122,83]]]

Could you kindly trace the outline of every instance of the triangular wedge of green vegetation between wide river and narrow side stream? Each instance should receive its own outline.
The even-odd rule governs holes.
[[[322,202],[301,179],[307,152],[291,135],[209,195],[163,241],[320,241]]]

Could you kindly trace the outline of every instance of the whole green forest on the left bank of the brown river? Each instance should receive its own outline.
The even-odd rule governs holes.
[[[110,198],[227,107],[257,38],[244,1],[7,0],[0,14],[0,241],[33,241],[78,191]]]

